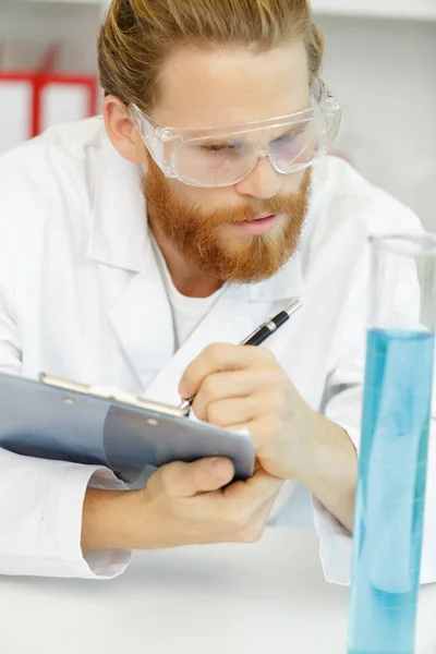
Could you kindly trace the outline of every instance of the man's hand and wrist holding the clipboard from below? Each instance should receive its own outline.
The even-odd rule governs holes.
[[[257,541],[283,481],[261,469],[228,485],[233,474],[229,460],[203,459],[160,468],[143,491],[89,488],[83,552]]]

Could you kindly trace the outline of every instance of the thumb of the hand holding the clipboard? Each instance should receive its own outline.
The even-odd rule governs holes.
[[[167,495],[194,497],[229,484],[234,476],[234,467],[229,459],[214,458],[202,459],[194,463],[169,463],[158,472]]]

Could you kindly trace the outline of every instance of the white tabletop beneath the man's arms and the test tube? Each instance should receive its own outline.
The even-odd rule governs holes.
[[[138,554],[110,582],[0,578],[2,654],[346,653],[349,590],[327,584],[313,531],[256,545]],[[436,586],[416,654],[436,653]]]

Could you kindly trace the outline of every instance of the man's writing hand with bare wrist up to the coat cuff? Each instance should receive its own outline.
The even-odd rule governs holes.
[[[352,531],[358,457],[348,434],[314,411],[264,348],[209,346],[179,386],[199,420],[247,428],[269,474],[303,484]]]

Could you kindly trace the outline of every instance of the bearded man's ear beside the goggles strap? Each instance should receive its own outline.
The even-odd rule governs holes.
[[[132,164],[144,164],[145,146],[132,123],[124,102],[116,96],[107,96],[102,106],[102,114],[106,132],[119,154]]]

